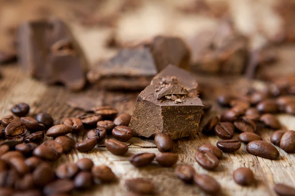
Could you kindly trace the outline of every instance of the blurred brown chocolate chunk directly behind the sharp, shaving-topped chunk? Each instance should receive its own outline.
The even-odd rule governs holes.
[[[151,43],[150,49],[159,72],[169,64],[186,70],[189,69],[190,51],[182,39],[156,36]]]

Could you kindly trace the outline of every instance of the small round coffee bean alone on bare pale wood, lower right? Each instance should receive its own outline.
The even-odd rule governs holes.
[[[242,186],[249,186],[254,183],[253,172],[249,168],[239,168],[233,173],[234,180]]]

